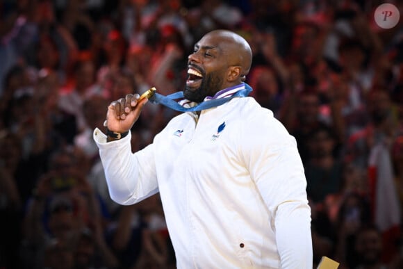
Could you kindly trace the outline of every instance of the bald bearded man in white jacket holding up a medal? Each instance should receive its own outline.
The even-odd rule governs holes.
[[[174,117],[134,154],[129,130],[147,99],[113,101],[107,135],[94,130],[115,202],[160,193],[178,268],[312,268],[297,145],[271,111],[242,94],[251,63],[240,35],[207,33],[188,56],[181,103],[201,110]]]

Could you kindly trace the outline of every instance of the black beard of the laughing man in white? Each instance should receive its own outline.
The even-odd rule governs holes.
[[[183,90],[183,96],[190,100],[200,103],[204,101],[204,98],[211,96],[213,97],[215,93],[222,90],[222,76],[217,73],[210,73],[204,76],[201,81],[200,87],[192,90],[185,86],[185,90]]]

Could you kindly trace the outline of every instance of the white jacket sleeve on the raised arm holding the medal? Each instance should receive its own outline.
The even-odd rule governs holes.
[[[118,204],[135,204],[158,193],[154,145],[131,152],[131,133],[121,140],[106,142],[95,129],[93,138],[99,147],[110,198]]]

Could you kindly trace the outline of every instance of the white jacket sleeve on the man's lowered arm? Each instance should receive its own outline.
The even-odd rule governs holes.
[[[295,138],[274,117],[245,124],[242,155],[270,215],[281,268],[311,269],[311,209]]]

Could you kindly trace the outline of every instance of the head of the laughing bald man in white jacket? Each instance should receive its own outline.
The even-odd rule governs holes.
[[[188,57],[188,80],[183,94],[196,102],[213,97],[216,92],[242,82],[251,63],[252,51],[239,35],[227,31],[208,33]]]

